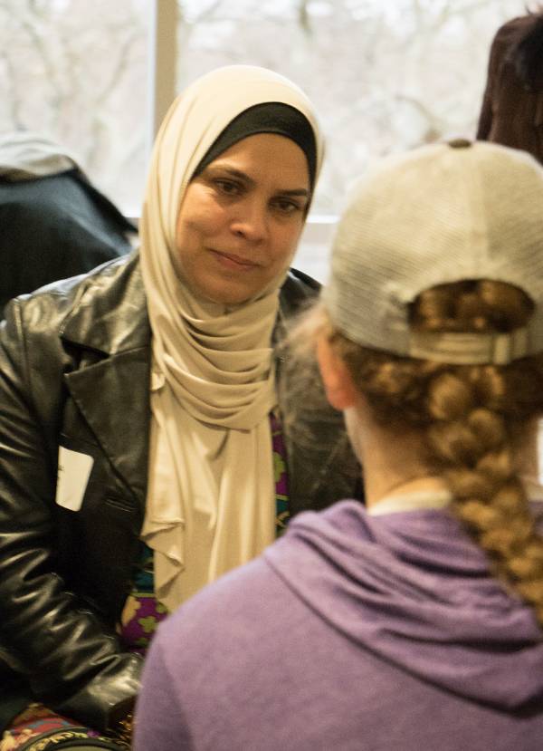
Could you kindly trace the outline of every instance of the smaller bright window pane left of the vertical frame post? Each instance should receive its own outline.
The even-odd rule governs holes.
[[[148,0],[0,0],[0,130],[74,153],[120,207],[146,168]]]

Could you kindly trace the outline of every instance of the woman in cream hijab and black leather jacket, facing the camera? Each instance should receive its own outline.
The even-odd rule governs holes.
[[[289,266],[321,157],[294,84],[208,73],[158,133],[139,252],[7,306],[2,751],[129,746],[157,621],[356,492],[340,416],[289,419],[272,349],[317,292]]]

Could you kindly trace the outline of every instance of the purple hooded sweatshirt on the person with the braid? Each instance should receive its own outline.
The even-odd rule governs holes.
[[[543,632],[446,510],[296,517],[159,629],[136,751],[541,751]]]

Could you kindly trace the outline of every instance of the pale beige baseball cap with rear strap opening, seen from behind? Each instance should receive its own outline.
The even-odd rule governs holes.
[[[409,305],[438,284],[492,279],[535,304],[510,333],[426,333]],[[341,217],[322,299],[353,342],[452,364],[543,351],[543,168],[529,154],[453,140],[368,170]]]

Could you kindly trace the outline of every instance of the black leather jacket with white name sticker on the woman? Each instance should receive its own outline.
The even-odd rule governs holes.
[[[304,274],[289,275],[276,338],[316,291]],[[0,328],[0,726],[40,700],[104,729],[138,692],[142,660],[121,649],[115,623],[143,522],[149,359],[137,253],[7,307]],[[283,414],[287,370],[280,363]],[[341,416],[309,409],[306,422],[296,434],[285,421],[292,513],[356,493]],[[94,460],[79,511],[55,503],[59,446]]]

